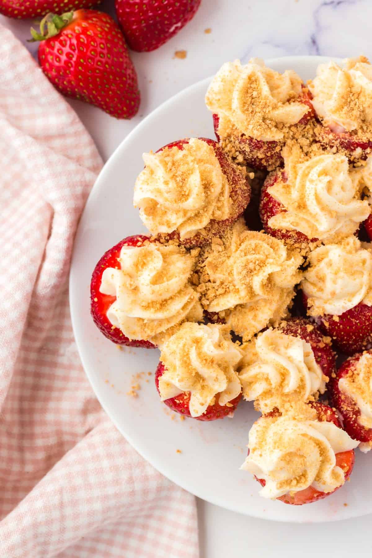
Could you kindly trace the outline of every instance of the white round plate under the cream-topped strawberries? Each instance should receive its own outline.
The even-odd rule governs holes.
[[[296,56],[267,64],[278,71],[294,69],[307,80],[324,60]],[[142,153],[183,137],[214,137],[211,113],[204,105],[209,81],[183,90],[144,119],[110,157],[91,191],[76,235],[70,274],[71,316],[86,375],[103,408],[134,448],[166,477],[200,498],[277,521],[335,521],[370,513],[372,456],[359,450],[350,482],[325,500],[294,507],[259,497],[259,484],[239,470],[247,453],[249,427],[259,416],[253,406],[241,402],[232,420],[180,421],[161,403],[154,386],[158,350],[118,350],[90,318],[89,285],[96,262],[120,239],[146,232],[132,206],[134,181],[143,168]],[[141,372],[146,377],[139,381],[139,397],[129,397],[132,375]],[[177,449],[182,453],[176,453]]]

